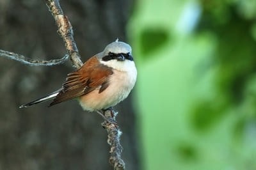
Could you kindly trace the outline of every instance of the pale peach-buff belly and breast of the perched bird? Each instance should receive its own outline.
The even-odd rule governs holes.
[[[80,97],[79,103],[86,111],[107,109],[127,98],[135,82],[136,74],[131,76],[127,72],[114,70],[113,75],[109,78],[108,88],[101,93],[99,93],[99,89],[91,91]]]

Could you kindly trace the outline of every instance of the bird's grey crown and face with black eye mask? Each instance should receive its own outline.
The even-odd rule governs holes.
[[[109,61],[116,59],[117,61],[133,61],[132,58],[132,48],[129,44],[125,42],[115,42],[109,43],[102,52],[102,61]]]

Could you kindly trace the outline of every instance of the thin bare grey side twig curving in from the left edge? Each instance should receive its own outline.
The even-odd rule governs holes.
[[[65,55],[61,59],[51,59],[48,61],[45,60],[34,60],[30,58],[26,58],[25,56],[22,56],[20,54],[9,52],[6,50],[0,50],[0,57],[6,57],[10,59],[14,59],[17,61],[20,61],[21,63],[24,63],[26,65],[30,66],[53,66],[53,65],[60,65],[61,63],[64,63],[68,59],[68,55]]]

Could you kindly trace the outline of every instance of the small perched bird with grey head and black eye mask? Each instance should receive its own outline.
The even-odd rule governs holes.
[[[81,68],[68,73],[62,88],[38,98],[20,108],[52,100],[52,105],[77,98],[85,111],[102,111],[115,106],[128,97],[136,83],[137,69],[132,48],[116,39],[102,52],[88,59]]]

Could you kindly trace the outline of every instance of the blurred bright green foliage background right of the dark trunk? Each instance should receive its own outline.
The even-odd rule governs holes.
[[[143,169],[256,169],[255,18],[255,0],[135,2]]]

